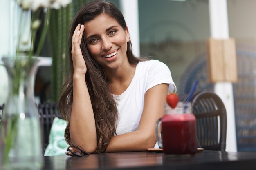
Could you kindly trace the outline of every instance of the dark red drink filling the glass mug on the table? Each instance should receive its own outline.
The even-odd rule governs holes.
[[[195,116],[191,113],[164,115],[162,144],[165,154],[195,154],[197,150]]]

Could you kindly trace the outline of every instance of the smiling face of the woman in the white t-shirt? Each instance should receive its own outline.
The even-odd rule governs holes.
[[[128,62],[128,31],[114,18],[101,14],[84,26],[89,53],[104,69],[118,69],[124,62]]]

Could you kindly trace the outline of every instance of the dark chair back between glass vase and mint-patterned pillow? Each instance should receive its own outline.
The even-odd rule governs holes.
[[[43,133],[43,151],[49,144],[49,133],[52,127],[52,121],[55,117],[62,118],[58,112],[56,103],[43,103],[38,105],[41,129]]]

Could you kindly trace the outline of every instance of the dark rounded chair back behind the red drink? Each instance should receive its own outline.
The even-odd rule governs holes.
[[[225,151],[227,113],[220,97],[212,91],[200,91],[193,95],[191,104],[199,144],[204,150]]]

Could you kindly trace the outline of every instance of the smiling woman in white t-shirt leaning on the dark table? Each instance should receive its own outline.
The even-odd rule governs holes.
[[[168,67],[132,54],[128,28],[113,4],[94,1],[76,14],[70,70],[59,98],[65,139],[89,153],[142,151],[156,143],[155,123],[175,84]]]

